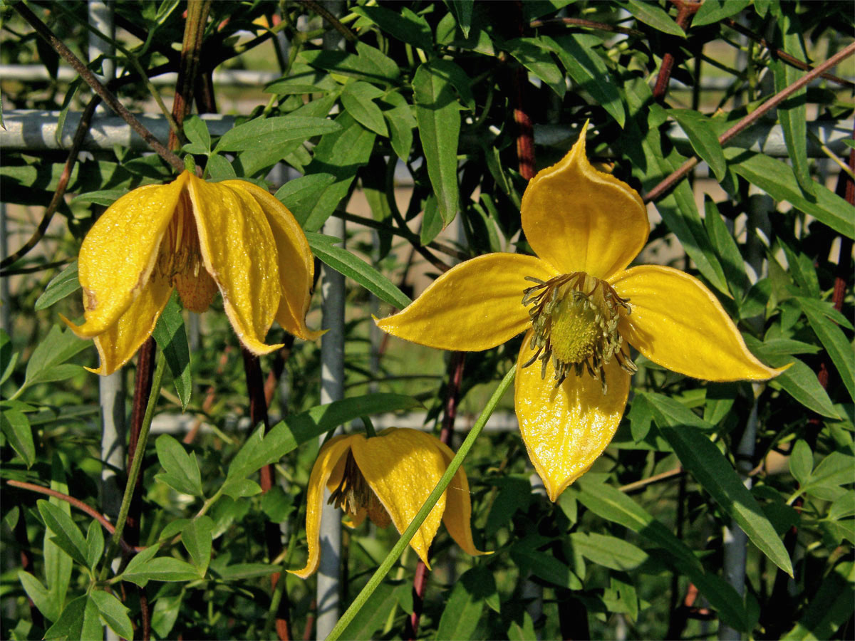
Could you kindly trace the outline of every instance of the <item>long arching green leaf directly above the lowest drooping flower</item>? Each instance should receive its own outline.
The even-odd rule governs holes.
[[[413,409],[421,403],[412,397],[399,394],[367,394],[345,398],[289,416],[277,423],[266,437],[256,430],[239,450],[229,465],[227,479],[245,479],[262,466],[279,461],[288,452],[297,449],[311,438],[318,438],[350,420],[360,416]]]

